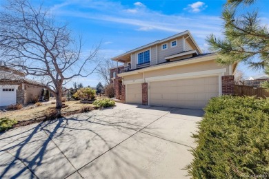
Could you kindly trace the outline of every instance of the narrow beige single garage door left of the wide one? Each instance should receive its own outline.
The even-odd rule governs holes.
[[[126,85],[126,103],[142,104],[141,83]]]

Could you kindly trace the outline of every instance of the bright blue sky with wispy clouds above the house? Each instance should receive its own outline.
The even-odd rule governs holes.
[[[110,58],[146,43],[190,30],[203,52],[208,52],[206,36],[221,36],[221,9],[226,1],[45,1],[58,21],[68,22],[74,36],[82,35],[83,50],[101,42],[99,56]],[[257,1],[261,22],[269,23],[268,1]],[[241,64],[246,76],[261,74]],[[97,74],[77,78],[83,85],[96,86]]]

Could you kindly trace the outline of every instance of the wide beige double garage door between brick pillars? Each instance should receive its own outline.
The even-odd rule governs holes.
[[[219,76],[150,82],[150,105],[201,109],[219,95]]]

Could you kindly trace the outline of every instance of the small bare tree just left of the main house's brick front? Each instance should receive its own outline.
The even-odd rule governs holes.
[[[97,73],[108,85],[110,83],[110,68],[115,67],[115,62],[110,59],[103,59],[101,65],[97,68]]]

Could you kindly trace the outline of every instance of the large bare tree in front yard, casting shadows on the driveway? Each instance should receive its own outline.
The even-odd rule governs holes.
[[[99,46],[81,57],[81,38],[72,38],[66,24],[57,23],[43,6],[28,0],[8,0],[0,12],[0,64],[22,70],[56,98],[61,115],[62,86],[97,68]]]

